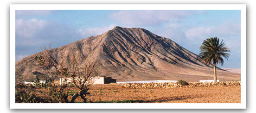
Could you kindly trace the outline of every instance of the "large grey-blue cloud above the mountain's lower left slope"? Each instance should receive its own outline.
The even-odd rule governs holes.
[[[82,38],[74,28],[40,19],[17,19],[15,29],[17,60],[40,52],[43,46],[48,46],[51,42],[52,48],[57,48]]]

